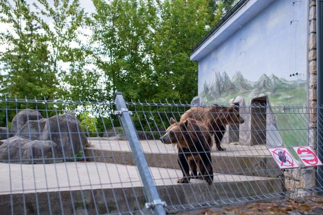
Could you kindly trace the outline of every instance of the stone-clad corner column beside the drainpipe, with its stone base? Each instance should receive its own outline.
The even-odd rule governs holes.
[[[312,149],[316,150],[316,0],[308,0],[308,3],[307,95],[308,105],[313,109],[309,110],[307,146],[310,146]],[[298,195],[304,194],[304,189],[315,187],[315,173],[316,172],[313,167],[289,169],[288,172],[284,172],[285,186],[287,190]]]

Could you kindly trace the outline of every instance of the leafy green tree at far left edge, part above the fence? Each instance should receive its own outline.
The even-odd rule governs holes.
[[[36,14],[24,0],[15,1],[14,6],[2,0],[0,13],[0,21],[12,27],[0,33],[0,44],[6,45],[0,52],[0,93],[29,99],[52,97],[57,92],[57,79],[51,67],[48,38],[41,33]]]

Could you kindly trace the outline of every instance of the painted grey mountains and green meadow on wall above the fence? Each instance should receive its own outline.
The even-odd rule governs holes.
[[[260,93],[269,96],[275,106],[304,106],[306,102],[306,82],[302,79],[287,81],[274,74],[263,74],[256,82],[248,81],[240,71],[230,79],[228,74],[215,71],[209,83],[204,81],[200,97],[205,104],[227,104],[230,99],[242,96],[248,105],[250,99]]]

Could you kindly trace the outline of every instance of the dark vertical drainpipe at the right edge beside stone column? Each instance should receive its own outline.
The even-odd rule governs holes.
[[[317,154],[323,161],[323,0],[316,0],[317,40]],[[317,187],[323,195],[323,166],[317,167]]]

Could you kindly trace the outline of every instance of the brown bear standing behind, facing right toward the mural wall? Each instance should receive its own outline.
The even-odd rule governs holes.
[[[245,121],[233,106],[216,104],[211,107],[192,107],[180,117],[180,121],[185,121],[187,118],[203,122],[209,132],[214,132],[216,148],[219,151],[226,150],[221,148],[226,125],[242,124]]]

